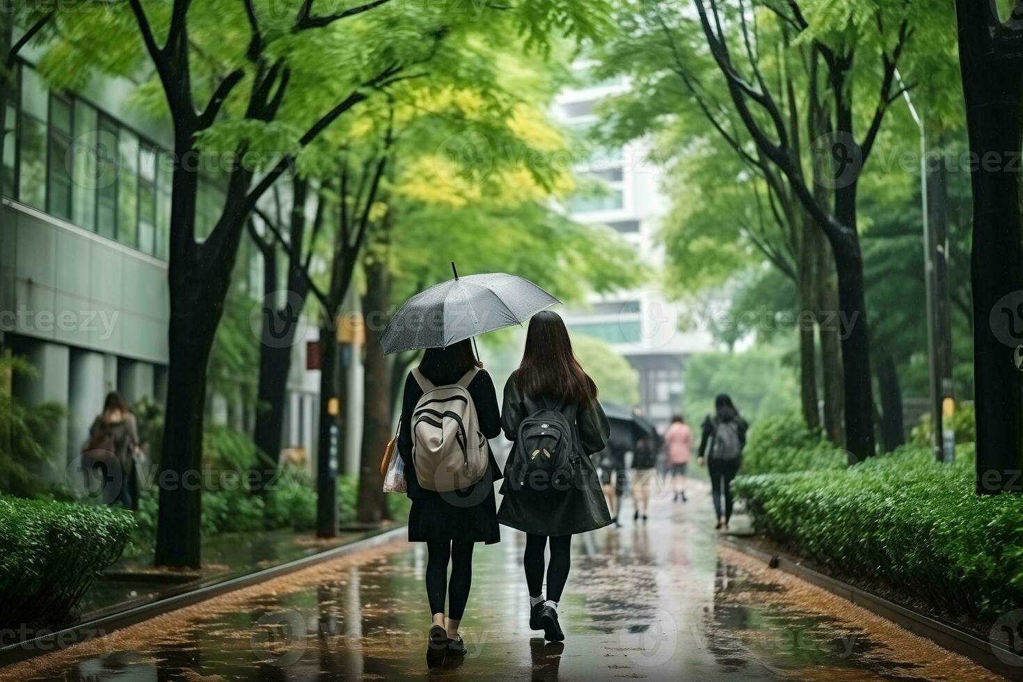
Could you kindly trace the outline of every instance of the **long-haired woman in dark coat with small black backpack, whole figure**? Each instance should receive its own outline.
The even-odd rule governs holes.
[[[526,533],[529,627],[543,630],[552,642],[565,639],[558,602],[569,577],[572,536],[611,524],[589,458],[604,450],[611,429],[596,394],[596,384],[572,352],[562,318],[549,311],[534,315],[522,363],[504,384],[501,427],[513,448],[497,519]]]

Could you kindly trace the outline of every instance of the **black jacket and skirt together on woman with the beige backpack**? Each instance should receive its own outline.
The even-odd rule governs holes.
[[[420,368],[420,371],[435,385],[447,385],[460,378],[460,375],[449,375],[450,372],[446,370],[438,372],[431,371],[431,368]],[[415,476],[412,426],[408,417],[415,410],[415,403],[422,397],[422,389],[411,372],[405,379],[401,424],[398,428],[398,454],[405,464],[405,481],[408,486],[406,495],[412,500],[412,508],[408,513],[408,539],[412,542],[473,540],[493,543],[500,540],[493,484],[502,476],[489,440],[500,435],[501,423],[497,395],[490,374],[482,369],[477,372],[469,384],[469,395],[476,407],[480,431],[488,440],[487,456],[490,466],[483,478],[469,488],[452,493],[438,493],[422,488]]]

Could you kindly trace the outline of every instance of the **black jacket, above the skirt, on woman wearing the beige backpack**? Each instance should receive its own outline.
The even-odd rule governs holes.
[[[443,370],[440,372],[442,375],[435,375],[438,373],[437,370],[431,371],[429,367],[420,368],[420,371],[434,385],[447,385],[461,378],[460,374],[458,376],[446,375],[451,372],[444,372]],[[480,420],[480,431],[488,441],[492,438],[497,438],[501,433],[501,415],[497,407],[497,393],[494,391],[494,381],[490,378],[490,374],[486,370],[481,369],[473,377],[472,382],[469,384],[469,395],[472,396],[473,405],[476,406],[476,414]],[[408,492],[406,494],[413,500],[440,497],[440,494],[436,491],[426,490],[419,486],[419,480],[415,476],[415,465],[412,463],[412,426],[410,419],[406,417],[411,416],[415,410],[416,401],[421,397],[422,389],[419,388],[419,382],[409,372],[408,376],[405,377],[405,393],[401,399],[401,425],[398,428],[398,453],[405,463],[405,481],[408,484]],[[494,453],[490,449],[489,442],[487,443],[487,455],[490,459],[490,475],[484,475],[479,483],[465,489],[463,492],[464,496],[472,497],[476,486],[490,486],[493,485],[494,481],[501,479],[501,470],[494,460]]]

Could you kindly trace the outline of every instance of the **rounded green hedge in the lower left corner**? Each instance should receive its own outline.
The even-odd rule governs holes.
[[[0,629],[63,622],[133,526],[113,507],[0,496]]]

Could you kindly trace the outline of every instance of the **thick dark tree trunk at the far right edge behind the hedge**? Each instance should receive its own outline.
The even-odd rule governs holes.
[[[977,492],[997,494],[1019,490],[1015,473],[1023,466],[1023,373],[1013,365],[1014,349],[1023,343],[1023,62],[1019,55],[1011,58],[1000,46],[991,44],[1005,39],[1009,29],[1003,27],[992,36],[987,3],[958,0],[955,7],[974,160],[971,281]]]

